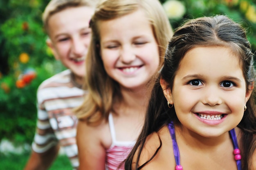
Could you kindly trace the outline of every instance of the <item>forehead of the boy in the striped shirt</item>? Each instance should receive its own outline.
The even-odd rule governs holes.
[[[69,7],[54,13],[48,20],[49,36],[89,27],[93,13],[94,8],[86,6]]]

